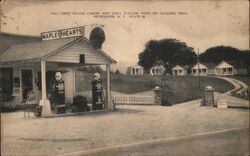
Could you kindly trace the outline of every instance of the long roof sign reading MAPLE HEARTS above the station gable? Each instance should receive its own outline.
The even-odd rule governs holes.
[[[53,39],[59,39],[59,38],[82,36],[83,33],[84,33],[83,27],[76,27],[76,28],[43,32],[41,33],[41,37],[42,37],[42,40],[53,40]]]

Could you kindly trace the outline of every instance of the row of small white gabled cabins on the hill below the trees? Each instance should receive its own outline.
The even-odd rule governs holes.
[[[165,68],[163,65],[157,65],[150,69],[150,75],[163,75]],[[128,74],[130,75],[143,75],[143,67],[137,65],[128,68]],[[236,74],[247,74],[247,69],[239,67],[239,65],[232,65],[226,61],[222,61],[219,64],[214,63],[197,63],[190,68],[190,66],[175,65],[172,68],[172,75],[174,76],[207,76],[207,75],[236,75]]]

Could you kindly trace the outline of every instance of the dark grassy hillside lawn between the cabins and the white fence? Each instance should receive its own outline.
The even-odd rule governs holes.
[[[106,83],[105,74],[101,75]],[[76,75],[76,91],[91,90],[93,74],[78,72]],[[163,88],[163,103],[172,105],[204,97],[206,86],[212,86],[216,92],[224,93],[234,87],[229,82],[216,77],[196,76],[134,76],[124,74],[111,75],[111,90],[133,94],[152,90],[155,86]],[[162,84],[162,85],[161,85]]]

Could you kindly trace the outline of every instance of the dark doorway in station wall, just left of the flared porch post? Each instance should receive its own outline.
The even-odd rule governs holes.
[[[31,69],[22,69],[22,99],[27,99],[27,94],[29,91],[33,90],[33,75]]]

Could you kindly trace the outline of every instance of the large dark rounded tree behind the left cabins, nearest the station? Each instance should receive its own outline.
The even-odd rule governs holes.
[[[196,62],[192,47],[177,39],[150,40],[139,54],[138,64],[148,71],[152,66],[162,62],[167,71],[176,65],[187,65]]]

